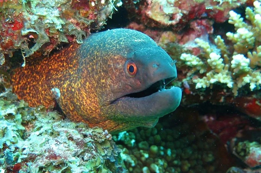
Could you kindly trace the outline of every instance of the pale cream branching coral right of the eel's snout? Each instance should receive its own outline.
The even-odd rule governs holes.
[[[234,11],[229,12],[229,23],[233,24],[236,32],[228,32],[227,39],[234,45],[231,55],[221,36],[215,38],[212,48],[207,41],[199,38],[195,42],[202,50],[202,55],[183,53],[181,60],[192,67],[192,73],[199,70],[205,74],[202,78],[193,78],[197,88],[212,87],[219,82],[232,89],[238,95],[238,89],[249,84],[251,91],[260,89],[261,85],[261,1],[254,1],[254,8],[246,8],[246,21]],[[195,71],[196,70],[196,71]]]

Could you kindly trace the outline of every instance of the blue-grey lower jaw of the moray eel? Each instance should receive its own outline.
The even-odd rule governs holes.
[[[164,84],[164,81],[157,83]],[[158,87],[153,88],[153,85],[152,88],[149,87],[149,89],[153,89],[152,93],[144,90],[142,92],[125,95],[111,102],[111,106],[125,118],[159,118],[174,111],[181,101],[181,89],[174,86],[170,89],[164,89],[165,85],[157,84],[158,87],[162,87],[159,89]]]

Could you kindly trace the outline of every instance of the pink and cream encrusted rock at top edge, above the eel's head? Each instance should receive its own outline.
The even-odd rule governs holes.
[[[246,0],[127,0],[125,6],[130,13],[136,15],[137,21],[146,26],[180,30],[194,19],[211,18],[216,22],[224,22],[231,9],[245,2]]]

